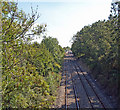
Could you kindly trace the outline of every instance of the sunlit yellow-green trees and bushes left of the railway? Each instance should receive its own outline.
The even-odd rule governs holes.
[[[2,108],[49,108],[56,96],[64,49],[43,36],[37,10],[26,15],[15,2],[2,2]],[[34,28],[33,28],[34,27]]]

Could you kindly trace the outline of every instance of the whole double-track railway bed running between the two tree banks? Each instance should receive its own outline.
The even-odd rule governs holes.
[[[72,54],[64,60],[65,109],[113,108],[89,74],[85,72]]]

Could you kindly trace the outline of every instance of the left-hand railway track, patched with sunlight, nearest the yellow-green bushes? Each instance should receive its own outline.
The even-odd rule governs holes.
[[[67,60],[67,64],[70,61]],[[74,79],[72,78],[72,73],[69,71],[69,66],[65,64],[65,109],[69,109],[69,108],[75,108],[77,110],[79,110],[79,103],[78,103],[78,99],[77,99],[77,93],[76,93],[76,87],[74,84]],[[69,74],[69,76],[68,76]],[[71,85],[71,87],[69,86]],[[70,87],[70,88],[69,88]],[[68,90],[70,89],[70,90]],[[70,94],[72,91],[72,94]],[[72,99],[71,99],[72,98]],[[71,104],[71,102],[74,102],[73,104]]]

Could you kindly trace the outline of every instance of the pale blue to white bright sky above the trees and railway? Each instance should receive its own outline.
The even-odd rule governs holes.
[[[15,0],[14,0],[15,1]],[[57,38],[62,47],[71,46],[71,39],[84,26],[108,19],[112,0],[17,0],[18,8],[31,13],[31,6],[40,18],[35,24],[47,24],[47,36]],[[41,41],[37,39],[38,42]]]

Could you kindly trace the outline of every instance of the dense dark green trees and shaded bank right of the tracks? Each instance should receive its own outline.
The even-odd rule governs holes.
[[[118,45],[118,15],[111,14],[108,20],[99,20],[78,31],[73,36],[72,52],[83,59],[109,95],[120,97]]]

